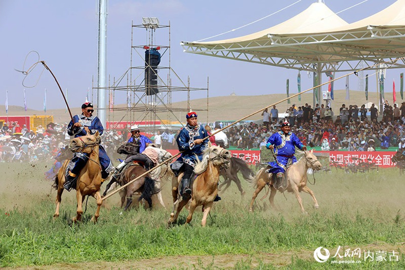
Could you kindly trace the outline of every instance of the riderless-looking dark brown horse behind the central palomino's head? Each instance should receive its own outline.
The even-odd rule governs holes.
[[[247,179],[248,181],[249,180],[253,181],[255,175],[253,174],[249,166],[246,164],[246,162],[241,159],[232,157],[229,163],[229,168],[224,168],[221,170],[220,175],[223,176],[225,180],[223,183],[219,185],[218,189],[221,190],[221,187],[226,185],[224,190],[222,190],[222,192],[225,192],[225,190],[230,186],[231,182],[234,181],[237,185],[237,188],[239,189],[240,195],[244,196],[245,191],[242,188],[239,178],[237,177],[237,173],[239,171],[242,173],[242,176],[245,179]]]

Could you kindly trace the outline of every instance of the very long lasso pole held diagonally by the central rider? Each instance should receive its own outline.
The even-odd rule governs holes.
[[[396,59],[394,59],[394,60],[386,61],[386,62],[383,62],[383,63],[396,62],[396,61],[401,60],[401,59],[404,59],[404,58],[405,58],[405,57],[396,58]],[[214,136],[214,135],[217,134],[218,132],[223,131],[224,129],[227,129],[227,128],[229,128],[229,127],[235,125],[236,123],[238,123],[238,122],[240,122],[240,121],[243,121],[243,120],[245,120],[245,119],[251,117],[252,115],[255,115],[256,113],[259,113],[259,112],[263,111],[264,109],[267,109],[267,108],[269,108],[269,107],[271,107],[271,106],[273,106],[273,105],[276,105],[276,104],[278,104],[278,103],[284,102],[284,101],[286,101],[286,100],[288,100],[288,99],[290,99],[290,98],[296,97],[296,96],[298,96],[298,95],[300,95],[300,94],[304,94],[304,93],[306,93],[306,92],[308,92],[308,91],[311,91],[311,90],[313,90],[313,89],[315,89],[315,88],[317,88],[317,87],[327,85],[327,84],[329,84],[329,83],[331,83],[331,82],[335,82],[335,81],[340,80],[340,79],[342,79],[342,78],[345,78],[345,77],[347,77],[347,76],[349,76],[349,75],[351,75],[351,74],[357,75],[357,73],[358,73],[359,71],[372,68],[372,67],[374,67],[374,66],[376,66],[376,65],[379,65],[379,64],[381,64],[381,63],[377,63],[377,64],[374,64],[374,65],[372,65],[372,66],[363,67],[363,68],[358,69],[358,70],[356,70],[356,71],[353,71],[353,72],[347,73],[347,74],[345,74],[345,75],[343,75],[343,76],[340,76],[339,78],[336,78],[336,79],[333,79],[333,80],[328,81],[328,82],[326,82],[326,83],[323,83],[323,84],[314,86],[314,87],[312,87],[312,88],[309,88],[309,89],[307,89],[307,90],[305,90],[305,91],[302,91],[301,93],[294,94],[294,95],[292,95],[291,97],[288,97],[288,98],[282,99],[282,100],[280,100],[280,101],[277,101],[277,102],[275,102],[275,103],[273,103],[273,104],[271,104],[271,105],[268,105],[268,106],[266,106],[266,107],[264,107],[264,108],[262,108],[262,109],[260,109],[260,110],[257,110],[257,111],[255,111],[255,112],[253,112],[253,113],[247,115],[246,117],[242,117],[241,119],[239,119],[239,120],[237,120],[237,121],[235,121],[235,122],[229,124],[229,125],[226,126],[226,127],[223,127],[222,129],[217,130],[216,132],[212,133],[210,136],[205,137],[205,138],[203,139],[203,141],[206,140],[206,139],[208,139],[208,138],[210,138],[211,136]],[[123,188],[127,187],[128,185],[132,184],[133,182],[135,182],[135,181],[138,180],[139,178],[141,178],[141,177],[147,175],[148,173],[150,173],[150,172],[153,171],[154,169],[159,168],[160,166],[162,166],[162,165],[168,163],[169,161],[171,161],[171,160],[173,160],[174,158],[176,158],[177,156],[179,156],[181,153],[182,153],[182,152],[178,152],[175,156],[171,157],[170,159],[168,159],[168,160],[166,160],[166,161],[164,161],[164,162],[162,162],[162,163],[159,163],[158,165],[156,165],[156,166],[153,167],[152,169],[150,169],[150,170],[144,172],[143,174],[141,174],[140,176],[138,176],[138,177],[134,178],[133,180],[129,181],[129,182],[126,183],[125,185],[119,187],[118,189],[115,189],[114,191],[112,191],[110,194],[108,194],[106,197],[102,198],[101,200],[104,201],[104,200],[110,198],[112,195],[116,194],[116,193],[117,193],[118,191],[120,191],[121,189],[123,189]]]

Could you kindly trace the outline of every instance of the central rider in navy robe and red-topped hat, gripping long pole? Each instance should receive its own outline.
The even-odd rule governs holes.
[[[182,151],[181,156],[177,159],[177,162],[182,163],[179,168],[172,170],[180,171],[183,169],[184,175],[181,180],[182,190],[180,195],[184,200],[191,198],[191,189],[189,187],[190,177],[194,171],[194,166],[197,160],[203,159],[203,151],[208,148],[208,139],[203,140],[208,136],[207,130],[204,126],[197,123],[197,113],[191,111],[186,114],[187,125],[180,130],[179,136],[177,136],[176,142],[179,151]],[[172,164],[173,165],[173,164]]]

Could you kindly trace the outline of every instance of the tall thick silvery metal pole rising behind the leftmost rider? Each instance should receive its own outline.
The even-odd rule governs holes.
[[[97,116],[106,127],[106,43],[107,43],[107,6],[108,0],[99,0],[98,21],[98,71],[97,71]]]

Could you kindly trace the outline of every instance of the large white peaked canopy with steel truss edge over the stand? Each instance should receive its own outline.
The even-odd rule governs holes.
[[[181,45],[187,53],[313,71],[320,79],[322,72],[357,70],[361,61],[368,66],[402,57],[405,0],[351,24],[318,1],[293,18],[256,33]],[[403,67],[404,60],[389,66]]]

